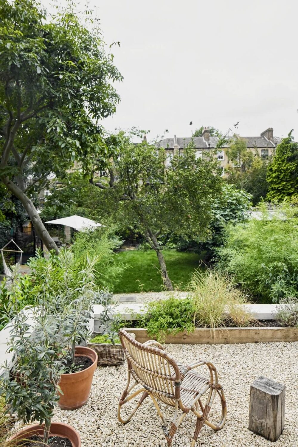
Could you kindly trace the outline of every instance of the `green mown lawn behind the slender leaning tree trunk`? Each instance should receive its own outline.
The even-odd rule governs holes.
[[[200,266],[200,256],[197,253],[176,250],[164,250],[163,254],[173,286],[183,290],[191,274]],[[159,292],[163,290],[159,262],[153,250],[119,252],[115,256],[115,262],[122,262],[129,267],[123,272],[119,283],[115,285],[114,293]]]

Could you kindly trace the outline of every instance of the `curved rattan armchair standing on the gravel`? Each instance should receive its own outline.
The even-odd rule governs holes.
[[[226,399],[222,386],[218,383],[216,368],[212,363],[198,361],[190,365],[178,364],[171,355],[164,351],[160,343],[150,340],[141,344],[130,337],[123,329],[120,331],[120,340],[128,367],[127,385],[118,405],[118,420],[120,422],[123,424],[129,422],[143,401],[150,396],[163,422],[168,446],[172,444],[177,428],[189,411],[197,416],[191,447],[195,446],[198,434],[204,424],[210,426],[213,430],[220,430],[224,426],[227,416]],[[210,376],[208,378],[193,371],[194,368],[202,365],[209,368]],[[134,379],[133,384],[130,384],[131,377]],[[137,385],[141,385],[141,388],[131,393]],[[120,415],[122,406],[140,393],[142,395],[135,408],[127,418],[122,419]],[[205,393],[207,393],[207,398],[203,405],[201,397]],[[217,395],[221,401],[222,415],[221,421],[218,425],[215,425],[210,422],[208,414],[214,402],[214,397]],[[175,409],[169,430],[157,401]]]

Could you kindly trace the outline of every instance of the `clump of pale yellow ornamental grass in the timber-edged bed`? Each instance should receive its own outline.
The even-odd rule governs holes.
[[[189,284],[197,327],[249,326],[254,321],[243,307],[248,297],[235,287],[233,278],[219,270],[197,271]]]

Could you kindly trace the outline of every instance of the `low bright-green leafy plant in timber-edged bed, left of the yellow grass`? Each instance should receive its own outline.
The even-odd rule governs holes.
[[[192,332],[194,306],[192,299],[168,298],[154,301],[147,305],[147,314],[143,317],[142,325],[147,327],[150,336],[164,342],[170,333],[186,330]]]

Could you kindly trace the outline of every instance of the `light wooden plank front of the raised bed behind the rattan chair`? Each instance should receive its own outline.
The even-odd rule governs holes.
[[[146,329],[127,328],[127,332],[133,332],[135,339],[140,343],[151,340]],[[298,328],[198,328],[192,333],[179,332],[176,335],[168,335],[165,343],[174,345],[213,345],[234,343],[268,343],[268,342],[298,342]]]

